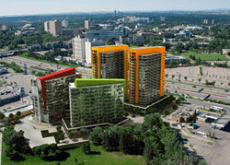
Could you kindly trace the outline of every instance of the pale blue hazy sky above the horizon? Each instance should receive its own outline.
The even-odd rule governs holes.
[[[230,0],[0,0],[0,16],[114,10],[195,11],[226,9],[229,6]]]

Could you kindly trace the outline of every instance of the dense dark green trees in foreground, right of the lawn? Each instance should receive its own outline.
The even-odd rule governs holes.
[[[206,164],[184,153],[178,133],[160,118],[161,114],[146,115],[143,124],[114,126],[103,130],[96,127],[89,135],[95,145],[105,151],[121,151],[129,155],[143,155],[146,164],[186,165]]]

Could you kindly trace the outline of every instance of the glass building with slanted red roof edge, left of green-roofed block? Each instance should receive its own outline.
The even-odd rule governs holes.
[[[75,73],[68,68],[31,80],[34,120],[55,124],[69,116],[69,83],[82,77]]]

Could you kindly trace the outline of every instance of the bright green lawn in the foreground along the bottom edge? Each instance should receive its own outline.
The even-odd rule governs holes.
[[[56,165],[55,161],[44,161],[37,156],[23,155],[26,160],[21,162],[12,162],[6,156],[4,151],[6,149],[5,143],[2,143],[2,164],[3,165]],[[120,152],[105,152],[101,146],[94,146],[91,144],[91,151],[99,152],[100,154],[85,155],[82,153],[82,147],[67,150],[70,154],[66,160],[60,161],[61,165],[80,164],[82,161],[86,165],[145,165],[146,161],[142,156],[124,155]],[[75,163],[75,158],[78,163]]]

